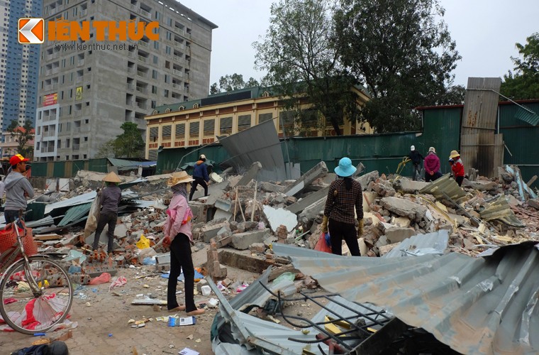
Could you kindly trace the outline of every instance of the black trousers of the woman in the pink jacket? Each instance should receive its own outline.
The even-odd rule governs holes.
[[[191,243],[189,237],[179,233],[170,244],[170,275],[167,290],[167,308],[173,310],[178,307],[176,300],[176,286],[178,276],[184,271],[185,310],[196,310],[194,304],[194,266],[191,258]]]

